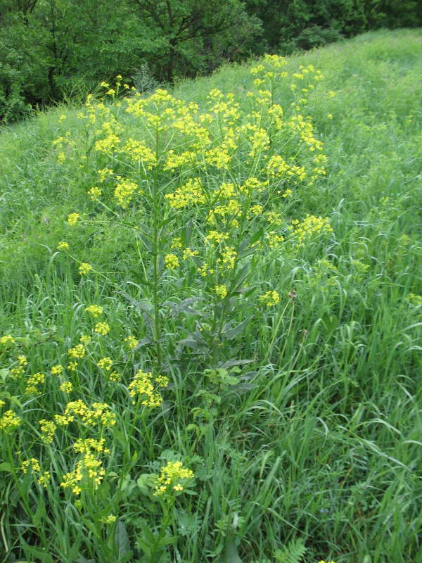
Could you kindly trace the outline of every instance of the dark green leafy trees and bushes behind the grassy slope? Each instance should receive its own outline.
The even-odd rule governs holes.
[[[148,88],[224,61],[421,24],[416,0],[0,0],[0,120],[82,101],[117,74]]]

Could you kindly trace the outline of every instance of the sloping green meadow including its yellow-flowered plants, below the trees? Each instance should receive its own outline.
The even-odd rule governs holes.
[[[0,132],[0,562],[422,562],[422,33]]]

